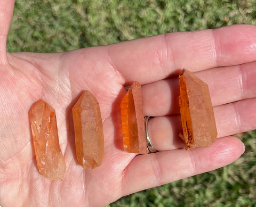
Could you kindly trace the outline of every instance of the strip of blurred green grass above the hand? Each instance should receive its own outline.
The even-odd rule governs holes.
[[[62,52],[165,32],[256,24],[255,10],[253,0],[17,0],[7,46],[10,52]]]

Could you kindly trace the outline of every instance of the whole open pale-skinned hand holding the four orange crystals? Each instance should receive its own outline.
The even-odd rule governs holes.
[[[58,54],[7,53],[14,1],[0,2],[0,205],[104,206],[118,198],[221,168],[239,158],[232,134],[256,128],[256,27],[237,25],[182,32]],[[186,151],[178,134],[180,69],[209,85],[218,138],[209,148]],[[142,85],[149,135],[159,152],[122,150],[119,103],[124,86]],[[76,161],[70,109],[82,90],[100,104],[105,154],[84,170]],[[56,111],[65,178],[39,174],[28,111],[39,98]],[[19,198],[19,199],[14,199]]]

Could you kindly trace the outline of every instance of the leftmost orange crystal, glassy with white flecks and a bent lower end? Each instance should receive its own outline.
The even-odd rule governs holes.
[[[31,106],[29,119],[39,172],[51,180],[62,180],[66,163],[60,150],[54,109],[39,100]]]

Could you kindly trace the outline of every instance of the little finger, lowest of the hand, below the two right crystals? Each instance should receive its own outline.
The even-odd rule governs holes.
[[[223,167],[234,162],[243,152],[241,140],[226,137],[207,148],[136,156],[125,170],[124,195]]]

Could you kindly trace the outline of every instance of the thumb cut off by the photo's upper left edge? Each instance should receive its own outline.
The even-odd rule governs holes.
[[[7,63],[6,40],[12,21],[14,0],[2,0],[0,2],[0,64]]]

